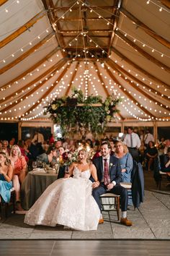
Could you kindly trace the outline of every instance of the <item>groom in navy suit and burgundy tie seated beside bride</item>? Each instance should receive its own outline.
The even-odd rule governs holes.
[[[99,205],[99,209],[102,210],[100,195],[107,193],[113,193],[115,195],[120,195],[121,197],[121,210],[122,218],[120,218],[120,223],[125,226],[132,226],[132,221],[127,218],[127,208],[128,208],[128,191],[124,187],[120,186],[121,181],[121,168],[118,158],[110,155],[110,145],[109,142],[102,142],[101,145],[102,156],[99,158],[94,158],[94,166],[97,168],[97,176],[99,182],[93,183],[92,195]],[[99,223],[104,223],[101,218]]]

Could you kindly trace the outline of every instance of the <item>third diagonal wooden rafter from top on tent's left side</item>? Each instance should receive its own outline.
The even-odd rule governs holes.
[[[53,72],[55,72],[56,70],[60,69],[63,66],[63,64],[60,64],[60,66],[58,68],[56,68]],[[52,73],[53,73],[52,72]],[[32,93],[35,93],[36,90],[40,89],[42,87],[42,85],[45,84],[45,82],[49,81],[50,79],[52,79],[52,77],[50,75],[48,75],[48,80],[44,79],[39,85],[37,85],[35,88],[33,88],[32,90],[29,90],[28,93],[24,94],[24,99],[27,99],[27,97],[29,97],[30,95],[32,95]],[[23,90],[23,89],[22,89]],[[13,108],[14,106],[17,106],[19,103],[21,103],[21,99],[23,100],[23,97],[20,97],[17,99],[17,101],[15,101],[14,103],[12,103],[11,105],[7,106],[6,108],[1,109],[1,113],[8,111],[10,108]]]

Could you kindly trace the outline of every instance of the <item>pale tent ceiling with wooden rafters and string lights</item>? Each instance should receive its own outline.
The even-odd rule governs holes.
[[[72,85],[121,97],[120,120],[169,120],[169,8],[166,0],[0,1],[0,120],[46,118],[43,107]]]

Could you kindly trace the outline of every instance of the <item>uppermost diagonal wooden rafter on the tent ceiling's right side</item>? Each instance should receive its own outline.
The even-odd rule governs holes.
[[[135,25],[140,27],[140,29],[144,30],[145,33],[147,33],[148,35],[151,35],[152,38],[154,38],[155,40],[157,40],[159,43],[166,46],[167,48],[170,48],[170,43],[168,40],[162,38],[161,35],[157,35],[153,30],[151,30],[151,28],[146,26],[143,22],[140,22],[140,20],[138,20],[135,16],[133,16],[133,14],[130,14],[130,12],[128,12],[125,8],[121,7],[120,12],[124,14],[126,17],[128,17],[132,22],[135,22]]]

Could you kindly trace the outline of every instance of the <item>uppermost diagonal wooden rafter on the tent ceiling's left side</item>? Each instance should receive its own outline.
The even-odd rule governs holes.
[[[12,40],[17,38],[19,35],[22,35],[22,33],[24,33],[24,31],[28,30],[30,27],[35,25],[35,23],[38,20],[40,20],[42,17],[44,17],[44,16],[45,16],[45,12],[44,11],[42,11],[39,14],[35,15],[35,17],[33,17],[31,20],[29,20],[29,22],[27,22],[24,25],[22,25],[22,27],[19,27],[19,29],[14,31],[14,33],[12,33],[11,35],[9,35],[6,38],[4,38],[4,40],[1,40],[0,48],[6,46],[7,43],[10,43]]]

